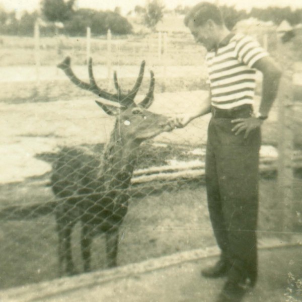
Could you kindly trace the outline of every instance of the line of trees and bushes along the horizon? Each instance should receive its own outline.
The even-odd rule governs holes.
[[[7,35],[32,35],[34,24],[37,18],[49,22],[49,26],[42,28],[45,35],[57,32],[56,25],[63,24],[60,31],[70,36],[83,36],[86,28],[90,27],[94,35],[103,35],[108,29],[113,34],[123,35],[132,32],[132,26],[127,18],[120,15],[119,8],[114,11],[96,11],[92,9],[74,8],[75,0],[42,0],[41,14],[38,12],[22,14],[17,18],[16,12],[6,12],[0,8],[0,33]],[[249,13],[244,10],[236,10],[234,6],[221,6],[221,11],[225,19],[226,26],[230,29],[243,19],[250,17],[261,21],[272,21],[279,25],[283,20],[289,24],[296,25],[302,23],[302,9],[292,10],[290,7],[268,7],[266,9],[253,8]],[[175,14],[186,14],[190,7],[178,6],[174,9]],[[136,6],[134,12],[141,17],[141,22],[150,29],[155,29],[159,21],[168,11],[161,0],[149,0],[145,7]],[[129,12],[130,13],[130,12]],[[171,12],[170,12],[171,13]]]

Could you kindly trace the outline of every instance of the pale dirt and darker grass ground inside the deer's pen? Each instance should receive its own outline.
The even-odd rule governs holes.
[[[204,91],[157,94],[154,112],[173,114],[194,110],[206,96]],[[142,96],[138,96],[138,99]],[[0,121],[2,183],[1,204],[41,203],[53,200],[49,181],[50,165],[37,159],[40,153],[55,152],[58,145],[100,143],[108,139],[113,119],[105,115],[91,99],[2,103]],[[209,116],[193,121],[184,129],[163,133],[158,142],[194,146],[206,141]],[[276,111],[268,121],[275,125]],[[277,128],[267,127],[265,141],[276,141]],[[45,174],[46,173],[46,174]],[[276,182],[261,184],[259,236],[279,236],[280,208]],[[296,186],[296,200],[300,190]],[[274,209],[274,215],[269,213]],[[57,277],[57,235],[52,215],[32,220],[1,222],[0,286],[3,288],[40,282]],[[73,251],[77,268],[82,271],[79,228],[74,232]],[[170,192],[134,199],[121,228],[119,264],[135,263],[171,255],[179,251],[214,245],[209,224],[205,189],[190,185]],[[104,238],[94,241],[93,268],[106,267]]]

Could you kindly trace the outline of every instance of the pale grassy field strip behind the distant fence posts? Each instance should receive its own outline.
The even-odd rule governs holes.
[[[41,38],[41,65],[56,65],[66,55],[71,55],[74,64],[85,64],[86,38],[66,37]],[[164,45],[164,44],[162,44]],[[34,65],[35,41],[31,37],[2,37],[0,66]],[[161,49],[163,52],[163,46]],[[186,56],[183,53],[186,53]],[[173,34],[168,37],[168,55],[159,55],[158,34],[113,37],[108,54],[105,36],[91,40],[91,56],[94,64],[107,64],[108,59],[117,65],[135,65],[137,58],[152,61],[152,64],[188,65],[203,62],[204,50],[196,45],[189,34]],[[195,63],[193,63],[195,64]]]

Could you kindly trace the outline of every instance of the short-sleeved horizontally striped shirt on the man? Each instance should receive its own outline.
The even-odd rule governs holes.
[[[231,109],[254,103],[255,62],[268,53],[253,38],[230,34],[206,55],[211,105]]]

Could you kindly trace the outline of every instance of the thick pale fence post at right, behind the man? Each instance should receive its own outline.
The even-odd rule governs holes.
[[[281,205],[282,232],[288,237],[293,224],[293,85],[292,71],[285,71],[278,96],[278,198]]]

